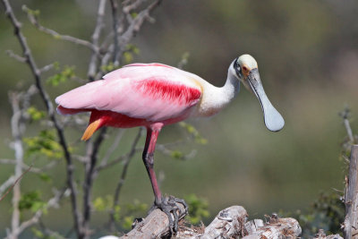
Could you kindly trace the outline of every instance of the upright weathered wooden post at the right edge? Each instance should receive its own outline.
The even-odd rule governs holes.
[[[345,184],[345,239],[358,238],[358,145],[352,145]]]

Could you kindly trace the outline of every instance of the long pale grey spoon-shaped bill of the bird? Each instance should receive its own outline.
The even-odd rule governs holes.
[[[264,121],[268,130],[272,132],[280,131],[284,125],[284,118],[278,113],[277,109],[272,106],[269,101],[265,90],[263,90],[259,70],[253,69],[247,77],[251,90],[255,93],[256,97],[259,98],[260,104],[263,111]]]

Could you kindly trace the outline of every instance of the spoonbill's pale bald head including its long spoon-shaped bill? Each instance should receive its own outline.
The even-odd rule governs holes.
[[[241,55],[234,59],[231,67],[234,68],[235,77],[243,82],[244,87],[259,98],[268,130],[273,132],[281,130],[285,125],[285,120],[272,106],[263,90],[256,60],[251,55]]]

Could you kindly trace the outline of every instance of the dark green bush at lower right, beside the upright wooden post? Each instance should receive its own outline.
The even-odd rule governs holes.
[[[303,238],[316,234],[319,229],[324,229],[327,234],[341,234],[340,226],[345,220],[345,204],[336,192],[321,192],[308,214],[303,214],[300,210],[280,214],[298,220],[303,228]]]

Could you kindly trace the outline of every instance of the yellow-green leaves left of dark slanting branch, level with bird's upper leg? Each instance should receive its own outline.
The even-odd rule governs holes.
[[[28,156],[42,154],[47,156],[47,158],[63,157],[63,150],[56,141],[55,132],[53,130],[43,130],[39,132],[38,136],[24,138],[23,141],[27,144],[26,154]]]

